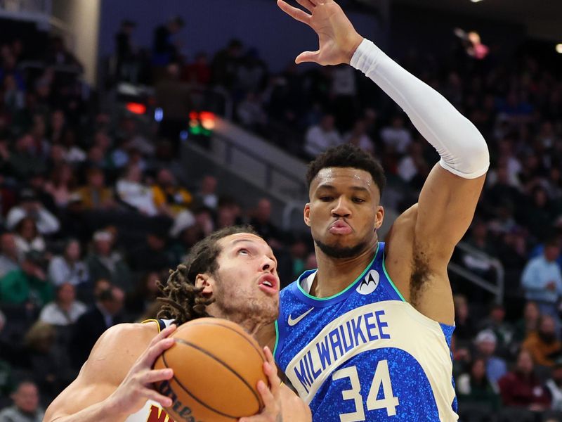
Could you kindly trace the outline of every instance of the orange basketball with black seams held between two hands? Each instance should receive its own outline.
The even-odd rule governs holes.
[[[234,322],[201,318],[178,327],[176,344],[155,362],[174,369],[174,378],[155,384],[172,399],[166,409],[175,421],[236,421],[260,411],[257,383],[266,357],[256,340]]]

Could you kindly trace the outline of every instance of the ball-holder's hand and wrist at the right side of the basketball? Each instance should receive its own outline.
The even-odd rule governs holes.
[[[277,376],[277,366],[269,347],[264,347],[267,362],[263,363],[263,372],[268,377],[270,388],[259,381],[258,391],[263,399],[263,410],[248,418],[240,418],[239,422],[310,422],[311,409],[287,385],[281,385]]]

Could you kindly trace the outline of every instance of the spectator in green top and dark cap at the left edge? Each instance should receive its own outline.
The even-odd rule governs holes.
[[[0,279],[0,302],[11,305],[31,303],[41,307],[53,298],[53,286],[42,268],[43,257],[37,251],[27,252],[20,269]]]

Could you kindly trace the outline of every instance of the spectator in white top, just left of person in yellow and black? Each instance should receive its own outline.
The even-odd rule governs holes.
[[[148,217],[158,215],[154,192],[143,184],[143,173],[136,165],[129,165],[124,176],[117,181],[117,196],[133,209]]]

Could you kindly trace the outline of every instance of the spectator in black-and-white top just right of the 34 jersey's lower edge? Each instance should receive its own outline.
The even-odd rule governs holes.
[[[459,409],[462,409],[463,404],[467,403],[478,404],[488,411],[499,409],[498,388],[486,376],[485,359],[474,359],[469,373],[463,373],[458,377],[457,398],[459,399]]]

